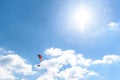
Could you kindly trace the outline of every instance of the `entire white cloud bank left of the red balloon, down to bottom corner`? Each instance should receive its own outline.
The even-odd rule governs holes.
[[[1,49],[0,52],[6,52]],[[12,52],[12,51],[8,51]],[[17,54],[0,55],[0,79],[14,80],[14,74],[32,75],[35,72],[32,70],[32,65],[27,64],[26,60]],[[7,76],[7,77],[6,77]]]

